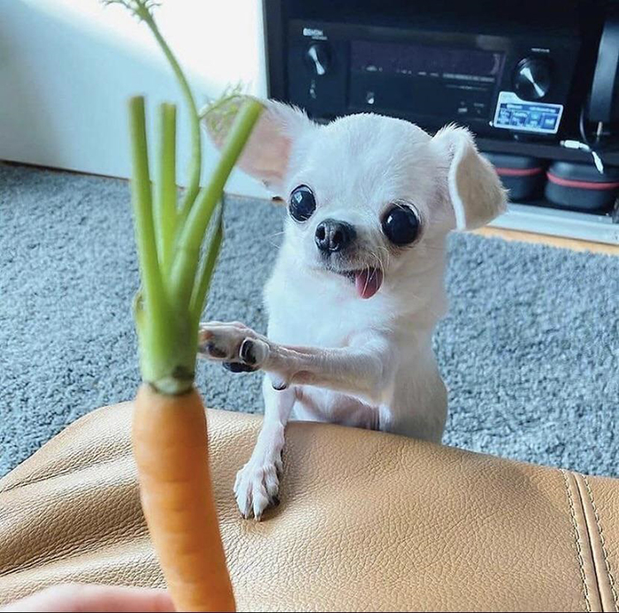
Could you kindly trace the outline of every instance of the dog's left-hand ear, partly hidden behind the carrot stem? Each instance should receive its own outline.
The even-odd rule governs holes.
[[[239,99],[231,101],[236,108]],[[237,165],[256,179],[262,180],[274,193],[280,191],[287,172],[294,142],[305,130],[317,127],[308,116],[294,106],[273,100],[261,101],[264,111],[260,115],[254,131],[241,154]],[[218,109],[218,113],[222,110]],[[225,108],[223,109],[225,114]],[[225,142],[233,117],[225,121],[210,121],[208,115],[203,120],[210,140],[221,149]]]

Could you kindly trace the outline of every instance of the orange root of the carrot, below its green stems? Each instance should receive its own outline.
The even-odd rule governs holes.
[[[176,609],[234,611],[198,392],[162,395],[142,384],[133,443],[142,509]]]

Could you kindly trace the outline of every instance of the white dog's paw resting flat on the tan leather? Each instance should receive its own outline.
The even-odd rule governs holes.
[[[236,475],[234,496],[241,515],[260,521],[264,510],[279,504],[281,460],[256,462],[251,459]]]

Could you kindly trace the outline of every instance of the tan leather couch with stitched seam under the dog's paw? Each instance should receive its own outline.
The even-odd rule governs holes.
[[[162,585],[130,414],[96,410],[0,480],[0,602],[59,581]],[[617,480],[292,424],[282,502],[256,524],[231,487],[260,418],[209,422],[241,610],[618,610]]]

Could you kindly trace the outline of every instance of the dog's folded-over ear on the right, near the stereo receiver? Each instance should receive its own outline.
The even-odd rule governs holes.
[[[493,165],[479,155],[469,130],[446,126],[432,138],[431,147],[447,159],[447,197],[457,230],[484,226],[505,211],[507,193]]]

